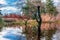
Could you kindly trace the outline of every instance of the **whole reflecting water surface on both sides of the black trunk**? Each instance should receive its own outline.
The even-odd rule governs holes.
[[[60,40],[59,25],[57,23],[42,23],[41,29],[44,32],[41,40],[48,40],[46,39],[48,37],[49,40]],[[22,27],[5,27],[0,32],[0,40],[37,40],[37,27],[28,27],[26,33],[22,34],[23,30]]]

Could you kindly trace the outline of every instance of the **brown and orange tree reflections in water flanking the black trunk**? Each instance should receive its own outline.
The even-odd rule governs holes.
[[[54,22],[46,22],[46,23],[42,23],[41,25],[41,30],[42,30],[42,38],[41,40],[56,40],[57,39],[57,25]],[[32,28],[35,28],[32,29]],[[27,27],[27,31],[26,31],[26,37],[27,40],[37,40],[37,28],[36,27]]]

